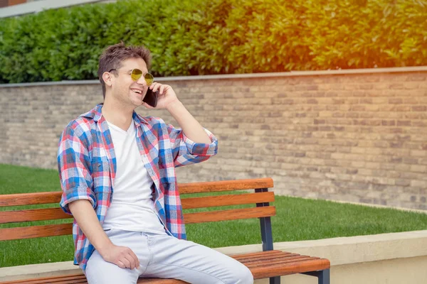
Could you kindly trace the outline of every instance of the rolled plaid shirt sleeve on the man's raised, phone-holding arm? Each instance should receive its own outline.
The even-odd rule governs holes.
[[[167,131],[172,144],[175,167],[200,163],[218,153],[218,139],[207,129],[204,131],[211,139],[209,144],[195,143],[185,136],[182,129],[174,128],[171,124],[167,126]]]

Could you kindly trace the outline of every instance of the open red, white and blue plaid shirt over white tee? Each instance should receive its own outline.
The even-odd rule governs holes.
[[[100,224],[112,201],[117,163],[108,124],[101,114],[102,104],[70,121],[60,136],[58,170],[63,190],[60,207],[71,214],[68,204],[89,200]],[[142,161],[153,180],[154,209],[167,234],[186,239],[175,167],[207,160],[215,155],[218,141],[207,131],[212,143],[194,143],[181,129],[162,119],[133,113],[137,127],[137,146]],[[85,271],[95,248],[77,222],[73,222],[74,264]]]

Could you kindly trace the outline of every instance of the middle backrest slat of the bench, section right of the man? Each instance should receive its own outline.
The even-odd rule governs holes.
[[[274,192],[257,192],[242,195],[219,195],[207,197],[192,197],[181,199],[184,209],[217,207],[239,204],[252,204],[261,202],[273,202]]]

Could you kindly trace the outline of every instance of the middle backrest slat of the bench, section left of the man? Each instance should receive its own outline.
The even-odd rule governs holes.
[[[69,219],[72,215],[60,208],[27,209],[0,212],[0,224],[42,220]]]

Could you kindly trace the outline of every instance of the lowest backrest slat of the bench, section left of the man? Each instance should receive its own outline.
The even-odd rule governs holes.
[[[21,226],[0,229],[0,241],[31,239],[41,236],[63,236],[73,234],[73,224],[55,224],[43,226]]]

